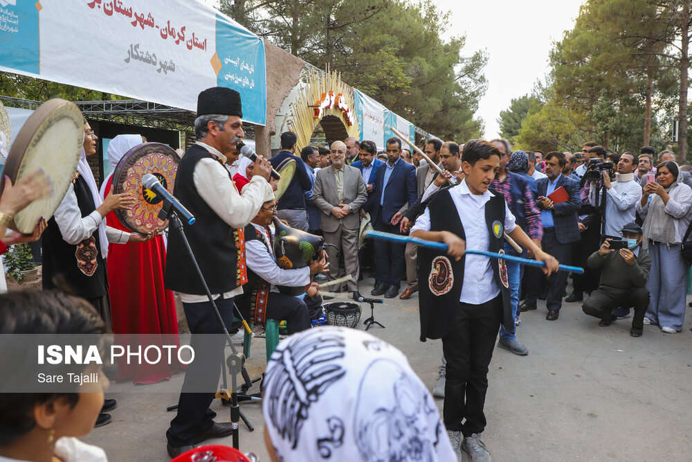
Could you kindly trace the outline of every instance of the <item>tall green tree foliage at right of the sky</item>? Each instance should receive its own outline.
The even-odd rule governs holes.
[[[619,151],[663,148],[666,126],[657,114],[670,109],[677,80],[671,57],[661,53],[665,45],[653,38],[666,29],[659,16],[653,0],[586,1],[550,53],[549,107],[527,124],[529,132],[522,125],[519,139],[540,140],[534,122],[549,112],[575,121],[572,133],[554,130],[555,123],[546,129],[545,141],[560,150],[581,141]]]

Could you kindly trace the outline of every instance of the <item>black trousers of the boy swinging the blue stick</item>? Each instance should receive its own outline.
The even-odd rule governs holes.
[[[488,366],[501,321],[501,295],[480,305],[459,303],[455,319],[450,319],[452,333],[442,339],[447,361],[442,415],[448,430],[471,436],[485,428]]]

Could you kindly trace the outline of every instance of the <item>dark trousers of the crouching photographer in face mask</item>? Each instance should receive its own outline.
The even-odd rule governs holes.
[[[615,308],[635,308],[635,316],[632,317],[632,327],[641,329],[644,327],[644,314],[648,308],[649,292],[646,287],[632,287],[632,289],[611,289],[599,287],[591,292],[584,301],[582,310],[589,316],[609,321]]]

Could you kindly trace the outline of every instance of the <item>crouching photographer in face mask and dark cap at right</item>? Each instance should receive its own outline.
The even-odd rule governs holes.
[[[610,326],[617,319],[613,310],[619,306],[635,308],[632,318],[632,337],[641,337],[644,314],[648,308],[649,292],[646,289],[651,258],[641,245],[641,227],[628,223],[621,230],[622,240],[606,239],[601,248],[587,262],[590,268],[600,268],[601,281],[598,290],[584,301],[586,314],[601,319],[599,326]]]

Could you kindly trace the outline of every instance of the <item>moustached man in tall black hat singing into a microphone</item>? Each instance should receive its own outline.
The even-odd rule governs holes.
[[[233,324],[233,298],[247,282],[244,228],[271,193],[271,165],[262,156],[255,162],[255,175],[240,194],[226,163],[237,159],[242,140],[240,94],[225,87],[212,87],[197,98],[194,130],[197,142],[181,159],[173,194],[197,222],[184,224],[185,236],[197,258],[204,279],[224,319]],[[223,330],[199,280],[188,251],[177,231],[168,240],[165,285],[179,292],[190,333],[195,360],[188,364],[178,402],[178,414],[166,432],[171,457],[192,449],[208,438],[231,434],[230,423],[215,423],[209,405],[215,396],[224,361],[225,339],[201,340],[195,334],[222,334]],[[205,393],[192,393],[208,390]]]

